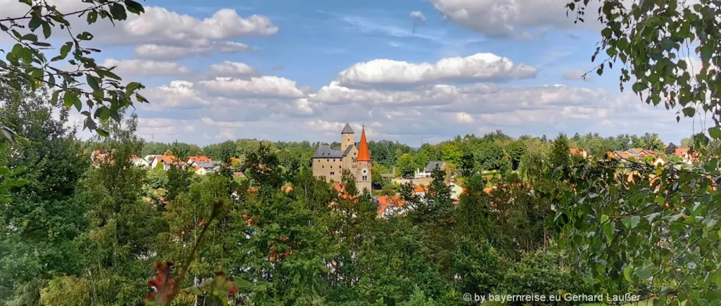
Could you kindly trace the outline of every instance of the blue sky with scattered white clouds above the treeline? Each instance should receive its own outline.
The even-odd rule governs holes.
[[[61,12],[87,6],[52,2]],[[676,122],[676,110],[622,93],[617,69],[581,78],[597,65],[590,57],[601,25],[595,9],[575,24],[565,1],[142,3],[145,14],[115,27],[73,27],[95,35],[99,63],[146,86],[150,103],[136,112],[148,141],[332,142],[350,122],[368,140],[413,147],[494,130],[549,138],[658,132],[678,143],[706,124]],[[24,13],[17,0],[0,5],[1,17]]]

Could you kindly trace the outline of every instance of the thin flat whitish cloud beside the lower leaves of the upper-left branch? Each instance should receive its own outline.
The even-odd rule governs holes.
[[[154,60],[115,60],[107,58],[100,66],[117,66],[114,73],[122,76],[178,76],[190,73],[190,68],[179,63]]]

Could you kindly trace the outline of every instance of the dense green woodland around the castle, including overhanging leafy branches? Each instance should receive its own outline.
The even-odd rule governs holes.
[[[461,172],[464,187],[456,203],[442,173],[423,196],[412,184],[394,186],[402,209],[381,217],[376,197],[357,194],[348,176],[339,192],[311,174],[318,143],[199,148],[138,138],[133,107],[149,102],[144,86],[97,65],[100,50],[87,48],[93,35],[74,33],[66,19],[80,16],[92,30],[98,19],[143,14],[138,2],[85,0],[87,9],[68,15],[48,1],[19,2],[27,14],[0,19],[14,43],[0,60],[3,305],[474,305],[467,294],[566,293],[721,305],[713,1],[566,5],[576,22],[586,8],[601,16],[593,72],[616,66],[619,89],[675,110],[679,121],[712,118],[679,144],[698,160],[599,158],[626,148],[670,154],[676,145],[653,133],[513,139],[497,131],[417,149],[380,140],[370,145],[379,174],[407,177],[440,159]],[[70,40],[48,59],[58,30]],[[696,71],[690,56],[701,62]],[[75,111],[82,127],[67,124]],[[93,138],[80,139],[79,129]],[[91,162],[93,150],[110,154]],[[198,176],[131,164],[160,152],[203,153],[224,167]],[[238,166],[245,179],[234,179]]]

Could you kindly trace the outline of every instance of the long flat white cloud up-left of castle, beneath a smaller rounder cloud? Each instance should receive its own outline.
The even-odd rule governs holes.
[[[305,94],[296,87],[296,82],[278,76],[252,77],[247,80],[239,78],[214,78],[200,81],[208,94],[233,97],[258,98],[302,98]]]

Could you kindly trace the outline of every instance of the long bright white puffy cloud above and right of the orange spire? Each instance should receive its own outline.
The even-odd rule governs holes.
[[[398,60],[371,60],[357,63],[337,76],[342,86],[418,86],[431,83],[507,81],[534,78],[538,69],[515,65],[508,58],[477,53],[466,58],[443,58],[435,63],[407,63]]]

